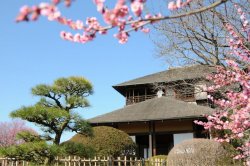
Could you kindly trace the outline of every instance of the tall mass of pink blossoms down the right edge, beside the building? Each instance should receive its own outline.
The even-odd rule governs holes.
[[[217,67],[217,73],[210,75],[209,80],[213,85],[208,88],[210,93],[218,92],[224,88],[224,97],[215,99],[209,96],[217,106],[217,111],[207,116],[208,122],[195,121],[203,125],[205,129],[215,130],[224,134],[215,136],[219,142],[239,141],[236,148],[240,153],[235,159],[244,159],[246,165],[250,165],[250,48],[247,43],[250,42],[250,25],[246,14],[242,9],[235,5],[242,21],[242,33],[247,38],[243,38],[234,28],[227,23],[225,28],[228,30],[231,38],[228,43],[230,46],[229,54],[244,61],[246,66],[240,66],[234,60],[228,59],[228,68]],[[238,90],[233,87],[238,86]],[[225,90],[226,89],[226,90]]]

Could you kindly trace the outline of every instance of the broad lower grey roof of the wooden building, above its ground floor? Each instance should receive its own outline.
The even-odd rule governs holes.
[[[125,106],[113,112],[89,119],[92,124],[135,122],[170,119],[189,119],[211,114],[213,109],[179,101],[170,97],[149,99]]]

